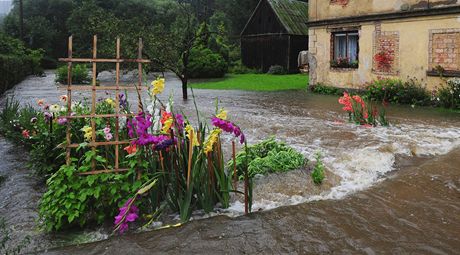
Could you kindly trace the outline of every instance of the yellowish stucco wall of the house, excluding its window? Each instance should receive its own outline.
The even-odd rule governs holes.
[[[361,3],[362,9],[359,10],[360,8],[354,7],[357,2],[367,4]],[[310,1],[310,14],[313,15],[313,18],[310,17],[310,22],[315,17],[316,21],[334,20],[338,16],[343,20],[349,17],[347,15],[359,17],[363,10],[388,13],[398,10],[401,2],[417,4],[420,1],[350,0],[346,6],[330,4],[330,1]],[[451,4],[458,5],[457,1],[454,2]],[[320,19],[316,13],[312,14],[317,3],[319,3],[318,7],[326,9],[319,12]],[[340,8],[342,13],[336,8]],[[358,68],[331,67],[333,44],[331,34],[337,30],[358,31]],[[391,70],[381,71],[376,67],[374,56],[382,47],[391,49],[393,54]],[[336,87],[361,88],[367,82],[379,77],[403,80],[417,78],[431,90],[442,82],[435,76],[437,73],[432,72],[430,75],[427,73],[435,66],[441,65],[446,70],[459,71],[452,74],[460,75],[460,13],[413,18],[402,15],[401,18],[389,20],[310,25],[309,51],[310,58],[315,60],[315,64],[310,65],[310,85],[322,83]]]

